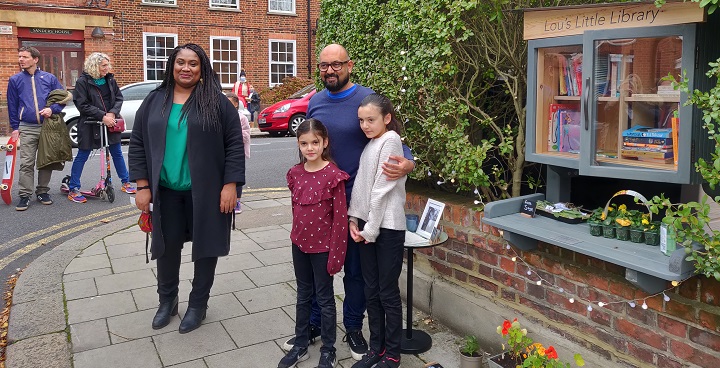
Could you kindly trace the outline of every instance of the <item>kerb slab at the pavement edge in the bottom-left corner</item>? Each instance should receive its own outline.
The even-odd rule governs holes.
[[[64,331],[25,339],[8,345],[5,365],[10,368],[71,368],[68,345]]]

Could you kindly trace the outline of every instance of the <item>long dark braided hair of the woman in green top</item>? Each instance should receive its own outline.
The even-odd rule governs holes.
[[[222,125],[220,124],[220,94],[222,93],[222,86],[215,72],[212,70],[212,64],[210,58],[208,58],[205,50],[202,47],[194,43],[186,43],[182,46],[178,46],[173,49],[172,53],[168,57],[167,65],[165,66],[165,78],[157,89],[165,88],[165,104],[163,104],[162,114],[165,115],[165,106],[167,105],[168,99],[170,99],[170,93],[175,88],[175,59],[180,50],[188,49],[197,54],[200,59],[200,81],[195,85],[195,88],[190,93],[190,97],[180,110],[180,121],[187,117],[188,111],[191,108],[197,109],[198,120],[202,125],[203,130],[221,131]]]

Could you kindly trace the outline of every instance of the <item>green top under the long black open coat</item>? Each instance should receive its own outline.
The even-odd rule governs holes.
[[[182,104],[173,104],[165,133],[165,158],[160,170],[160,185],[172,190],[190,190],[190,165],[187,159],[187,118],[180,120]]]

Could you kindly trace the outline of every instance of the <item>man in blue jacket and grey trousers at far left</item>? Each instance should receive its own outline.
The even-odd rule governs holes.
[[[20,201],[15,207],[18,211],[25,211],[30,206],[30,197],[35,186],[35,158],[43,120],[52,114],[60,113],[65,107],[61,104],[43,107],[51,91],[65,88],[54,75],[38,68],[39,59],[40,51],[36,48],[20,47],[18,63],[22,71],[10,77],[8,81],[8,115],[12,137],[20,138],[20,147],[22,147],[19,150],[18,192]],[[37,200],[46,205],[53,203],[48,193],[51,175],[52,170],[38,170],[38,181],[35,186]]]

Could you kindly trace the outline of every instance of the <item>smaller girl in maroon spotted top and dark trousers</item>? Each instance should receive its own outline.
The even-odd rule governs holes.
[[[319,120],[303,122],[298,127],[297,139],[300,163],[287,173],[293,211],[290,240],[297,281],[295,344],[278,368],[294,367],[308,358],[313,289],[321,310],[318,368],[333,368],[337,362],[333,275],[345,263],[348,234],[345,181],[349,176],[330,159],[327,129]]]

